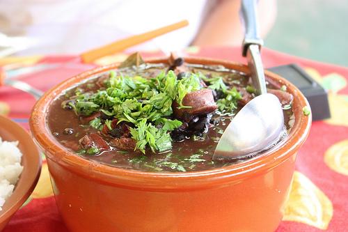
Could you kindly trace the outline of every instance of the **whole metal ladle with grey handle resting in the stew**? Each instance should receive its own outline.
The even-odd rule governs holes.
[[[248,60],[251,77],[258,95],[232,119],[214,152],[213,160],[243,159],[272,146],[284,128],[283,110],[278,98],[267,93],[260,56],[263,44],[258,36],[256,0],[242,0],[245,23],[243,56]]]

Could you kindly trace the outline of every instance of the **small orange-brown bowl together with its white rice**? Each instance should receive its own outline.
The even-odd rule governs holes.
[[[0,116],[0,231],[33,192],[40,171],[40,154],[29,133]]]

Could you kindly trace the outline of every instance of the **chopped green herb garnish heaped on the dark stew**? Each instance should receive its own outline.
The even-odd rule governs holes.
[[[242,97],[236,88],[228,89],[222,77],[207,78],[200,73],[187,72],[187,75],[177,79],[172,70],[149,79],[111,71],[109,79],[104,82],[106,88],[94,93],[77,89],[75,95],[70,97],[69,105],[78,116],[90,116],[100,111],[107,118],[117,119],[118,123],[127,123],[136,141],[136,150],[145,153],[150,148],[153,152],[164,152],[172,147],[169,133],[182,125],[182,121],[171,118],[173,102],[177,102],[178,108],[189,107],[183,104],[184,97],[203,88],[202,80],[209,84],[208,88],[223,93],[216,102],[219,111],[233,112],[237,109],[237,100]],[[106,125],[113,130],[111,121],[98,117],[89,125],[99,130]],[[90,148],[86,153],[98,153],[96,149]],[[183,171],[184,167],[178,169]]]

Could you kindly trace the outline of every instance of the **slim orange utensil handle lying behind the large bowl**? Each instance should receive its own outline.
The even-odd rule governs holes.
[[[171,24],[168,26],[161,27],[159,29],[155,29],[153,31],[148,31],[145,33],[141,33],[136,36],[130,36],[128,38],[124,38],[122,40],[118,40],[116,42],[113,42],[109,45],[104,45],[102,47],[98,47],[96,49],[92,49],[90,51],[84,52],[81,54],[81,59],[84,63],[90,63],[92,61],[95,61],[96,59],[99,59],[100,57],[114,54],[116,52],[121,52],[124,49],[127,49],[128,47],[132,47],[134,45],[137,45],[141,42],[145,42],[147,40],[151,40],[152,38],[156,38],[157,36],[161,36],[165,33],[175,31],[177,29],[180,29],[184,26],[187,26],[189,22],[187,20],[182,20],[180,22],[177,22],[175,24]]]

